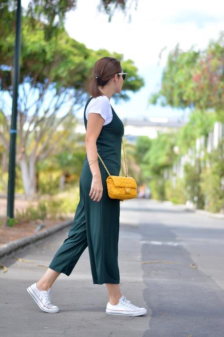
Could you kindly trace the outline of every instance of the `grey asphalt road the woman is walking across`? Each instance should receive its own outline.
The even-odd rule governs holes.
[[[60,274],[52,287],[59,313],[37,307],[26,288],[68,230],[0,260],[8,268],[0,271],[1,337],[224,337],[224,220],[167,202],[121,203],[120,285],[127,299],[148,309],[137,317],[105,314],[106,286],[93,285],[88,248],[72,274]]]

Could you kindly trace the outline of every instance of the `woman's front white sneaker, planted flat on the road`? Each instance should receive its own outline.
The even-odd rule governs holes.
[[[110,315],[140,316],[146,314],[147,309],[139,308],[127,300],[125,296],[121,296],[117,304],[107,303],[106,313]]]

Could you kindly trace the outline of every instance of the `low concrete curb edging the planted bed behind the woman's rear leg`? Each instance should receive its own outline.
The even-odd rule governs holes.
[[[73,223],[73,220],[67,220],[67,221],[61,222],[60,224],[58,224],[54,227],[42,230],[39,233],[35,233],[35,234],[29,235],[29,236],[26,236],[26,237],[22,237],[21,239],[14,240],[14,241],[11,241],[9,243],[6,243],[5,245],[0,247],[0,257],[3,257],[3,256],[5,256],[8,253],[11,253],[13,251],[16,251],[17,249],[19,249],[21,247],[29,245],[32,242],[40,240],[40,239],[42,239],[42,238],[44,238],[44,237],[46,237],[50,234],[58,232],[58,231],[62,230],[63,228],[71,226],[72,223]]]

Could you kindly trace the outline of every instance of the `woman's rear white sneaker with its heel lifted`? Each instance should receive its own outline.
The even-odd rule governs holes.
[[[26,290],[45,313],[58,313],[59,308],[56,307],[56,305],[51,304],[51,288],[49,288],[48,291],[39,290],[37,288],[37,283],[35,282]]]

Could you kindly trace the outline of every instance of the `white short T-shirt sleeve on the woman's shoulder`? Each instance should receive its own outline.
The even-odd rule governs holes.
[[[92,103],[89,106],[89,113],[99,113],[101,117],[106,121],[110,116],[110,101],[107,96],[98,96],[92,99]],[[86,116],[87,118],[87,116]]]

